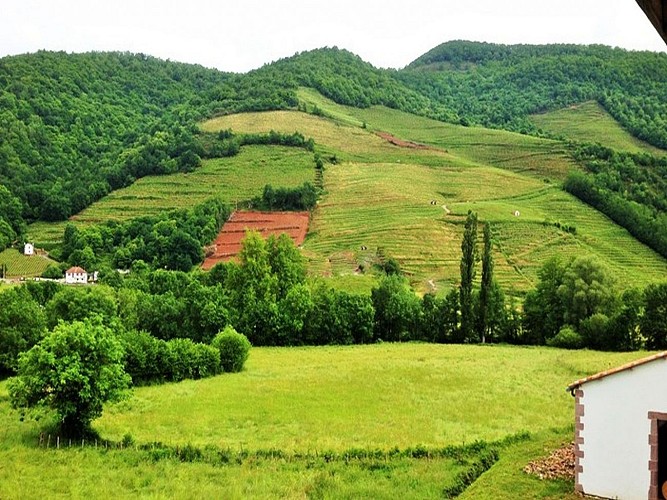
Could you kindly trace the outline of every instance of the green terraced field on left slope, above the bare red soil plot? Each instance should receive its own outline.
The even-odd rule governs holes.
[[[71,221],[94,224],[107,220],[128,220],[176,208],[191,208],[219,196],[228,203],[261,196],[264,186],[296,187],[313,182],[312,153],[279,146],[244,146],[231,158],[205,160],[194,172],[149,176],[93,203]],[[35,241],[61,241],[66,222],[30,226]]]

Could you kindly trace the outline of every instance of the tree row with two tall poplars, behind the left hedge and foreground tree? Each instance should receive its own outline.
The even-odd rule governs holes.
[[[596,260],[552,259],[540,269],[537,286],[520,309],[493,278],[488,224],[479,289],[472,285],[479,260],[476,226],[476,216],[470,214],[461,283],[444,296],[419,297],[393,266],[382,271],[370,294],[336,290],[307,277],[303,257],[289,237],[264,240],[252,232],[238,262],[218,264],[206,273],[152,270],[135,261],[127,275],[113,271],[104,276],[105,285],[29,283],[0,294],[0,363],[5,370],[15,369],[19,353],[46,330],[60,321],[92,316],[119,331],[146,332],[165,342],[209,344],[231,326],[253,345],[267,346],[426,341],[605,350],[667,347],[667,283],[621,294],[613,275]],[[150,343],[145,336],[132,339],[138,345]]]

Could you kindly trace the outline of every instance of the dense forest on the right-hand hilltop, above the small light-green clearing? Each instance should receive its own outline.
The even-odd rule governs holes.
[[[667,148],[666,54],[456,41],[395,75],[462,123],[537,132],[527,115],[596,100],[633,135]]]

